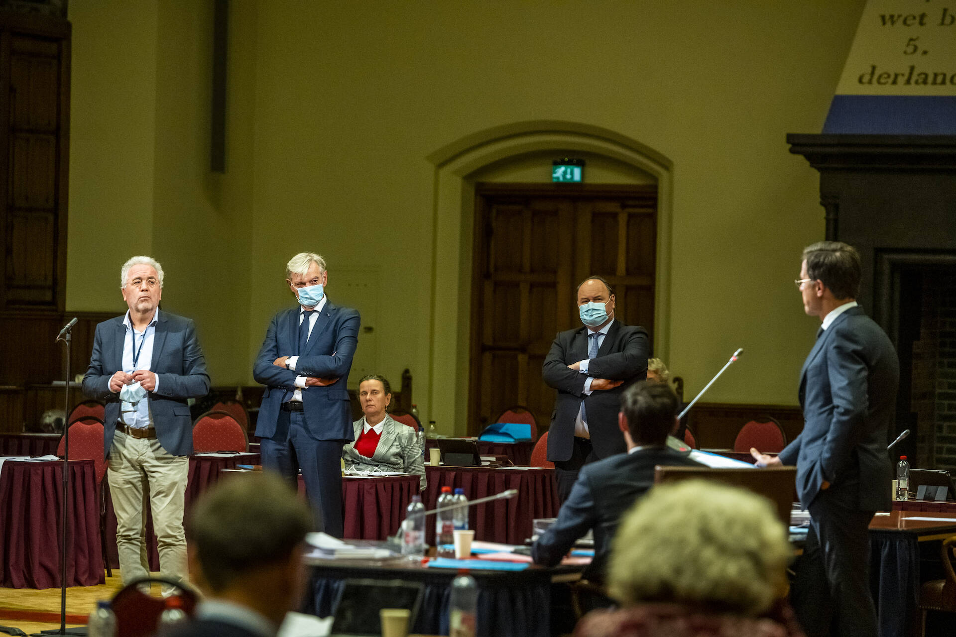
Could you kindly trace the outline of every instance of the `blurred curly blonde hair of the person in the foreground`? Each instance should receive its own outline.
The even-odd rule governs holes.
[[[662,484],[621,520],[608,590],[624,604],[706,604],[756,616],[786,594],[792,557],[770,500],[703,479]]]

